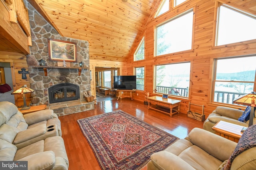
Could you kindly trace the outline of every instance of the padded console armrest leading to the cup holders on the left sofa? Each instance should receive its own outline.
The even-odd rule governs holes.
[[[30,139],[33,139],[35,137],[44,135],[46,133],[46,125],[39,125],[30,129],[26,129],[24,131],[20,131],[14,141],[13,144],[16,145],[18,143],[22,143],[24,141],[28,141]]]

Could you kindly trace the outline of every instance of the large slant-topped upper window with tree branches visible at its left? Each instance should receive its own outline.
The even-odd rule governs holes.
[[[156,27],[156,56],[192,49],[193,9]]]

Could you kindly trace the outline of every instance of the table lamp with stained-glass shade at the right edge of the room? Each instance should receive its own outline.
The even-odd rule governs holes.
[[[249,125],[248,125],[248,126],[251,126],[253,124],[254,107],[256,106],[256,93],[251,92],[250,94],[239,96],[238,98],[233,100],[233,103],[241,104],[245,106],[251,106],[250,119],[249,119]]]

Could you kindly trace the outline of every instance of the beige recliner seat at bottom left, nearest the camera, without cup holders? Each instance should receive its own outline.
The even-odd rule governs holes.
[[[0,138],[1,161],[28,161],[28,170],[68,170],[68,156],[62,137],[48,137],[17,149]]]

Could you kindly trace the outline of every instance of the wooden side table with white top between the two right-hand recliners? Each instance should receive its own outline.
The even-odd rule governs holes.
[[[244,126],[236,125],[234,123],[229,123],[226,121],[218,121],[212,130],[216,131],[216,135],[220,135],[230,141],[238,143],[240,137],[242,136],[241,130]]]

